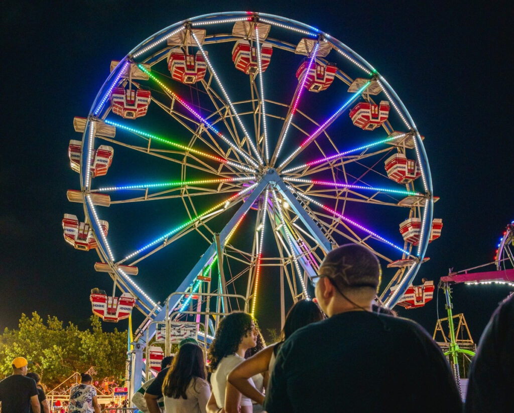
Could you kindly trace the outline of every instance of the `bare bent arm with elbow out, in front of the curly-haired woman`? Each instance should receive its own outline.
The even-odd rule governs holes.
[[[268,371],[273,348],[274,345],[271,345],[259,351],[257,354],[254,354],[249,359],[236,366],[228,375],[230,384],[238,391],[241,391],[243,395],[259,404],[264,403],[264,395],[252,385],[249,379],[255,376],[255,374]]]

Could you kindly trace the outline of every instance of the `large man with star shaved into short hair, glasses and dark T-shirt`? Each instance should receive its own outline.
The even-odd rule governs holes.
[[[387,405],[461,411],[448,362],[428,333],[371,311],[380,265],[370,250],[336,248],[316,278],[329,318],[299,329],[280,348],[264,402],[268,413],[376,412]]]

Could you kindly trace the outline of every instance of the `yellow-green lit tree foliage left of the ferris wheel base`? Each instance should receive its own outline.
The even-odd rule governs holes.
[[[124,377],[126,331],[105,332],[98,317],[90,320],[90,329],[80,331],[72,323],[63,327],[57,317],[48,316],[44,323],[36,312],[32,317],[22,314],[19,328],[0,334],[0,379],[12,373],[11,362],[18,356],[33,363],[29,371],[39,373],[49,389],[91,367],[97,372],[94,380]]]

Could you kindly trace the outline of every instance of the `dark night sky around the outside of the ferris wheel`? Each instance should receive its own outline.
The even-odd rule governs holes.
[[[63,240],[64,213],[82,214],[66,190],[79,189],[69,168],[75,116],[86,116],[108,76],[108,64],[158,30],[199,14],[252,10],[317,27],[374,65],[426,137],[442,236],[431,243],[416,280],[433,279],[493,260],[514,219],[510,137],[514,115],[509,8],[497,2],[10,2],[2,13],[3,140],[0,183],[0,329],[21,313],[56,315],[88,325],[89,290],[111,281],[96,273],[95,252]],[[331,6],[331,4],[333,6]],[[116,155],[115,155],[116,156]],[[127,223],[131,224],[131,223]],[[199,251],[198,254],[203,253]],[[488,267],[492,270],[492,267]],[[159,275],[138,278],[163,301],[172,292]],[[183,277],[177,276],[178,285]],[[415,283],[416,284],[416,283]],[[453,289],[454,314],[464,312],[478,341],[508,294],[500,286]],[[439,292],[439,313],[445,316]],[[401,310],[430,333],[436,299]],[[278,321],[271,321],[278,327]],[[119,328],[126,328],[126,322]]]

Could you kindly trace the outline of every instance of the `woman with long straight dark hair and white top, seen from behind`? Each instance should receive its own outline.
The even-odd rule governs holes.
[[[183,344],[162,383],[166,413],[206,413],[211,387],[204,353],[196,344]]]

